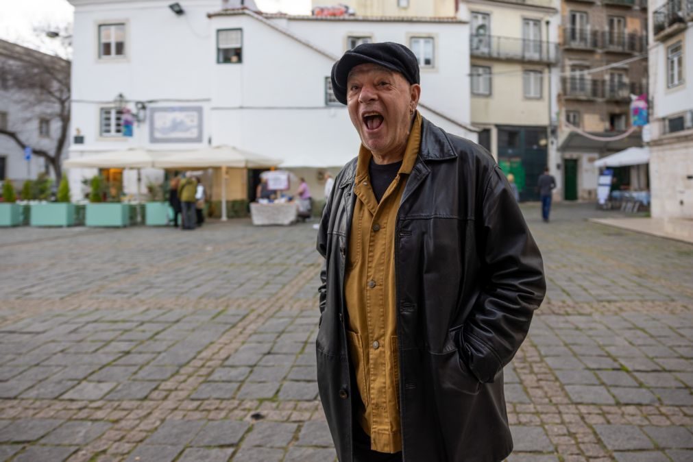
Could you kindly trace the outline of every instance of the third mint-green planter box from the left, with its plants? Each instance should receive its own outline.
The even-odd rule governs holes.
[[[108,199],[108,202],[104,202],[104,197]],[[130,204],[121,204],[119,188],[113,184],[105,185],[98,175],[93,177],[85,225],[123,228],[129,224]]]

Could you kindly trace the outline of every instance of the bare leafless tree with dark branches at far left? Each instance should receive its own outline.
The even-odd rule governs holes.
[[[40,27],[35,29],[41,30]],[[59,28],[58,39],[71,37],[69,29],[69,26]],[[15,98],[19,107],[26,109],[26,114],[35,115],[33,108],[40,107],[42,118],[58,123],[58,136],[51,148],[32,146],[33,154],[46,159],[58,181],[62,177],[62,152],[68,141],[71,98],[71,62],[58,55],[67,56],[70,44],[66,38],[62,41],[65,53],[49,55],[0,40],[0,85],[8,90],[10,98]],[[0,136],[8,136],[22,149],[33,141],[26,139],[26,134],[22,134],[17,125],[0,127]]]

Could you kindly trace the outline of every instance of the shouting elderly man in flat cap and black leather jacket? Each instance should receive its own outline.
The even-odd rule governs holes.
[[[503,367],[545,294],[539,250],[493,157],[416,110],[408,48],[357,46],[332,85],[361,139],[317,239],[317,378],[337,455],[501,461]]]

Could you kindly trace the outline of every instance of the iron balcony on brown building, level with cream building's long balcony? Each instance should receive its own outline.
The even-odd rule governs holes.
[[[647,36],[613,30],[566,27],[563,28],[563,46],[572,50],[644,53],[647,51]]]

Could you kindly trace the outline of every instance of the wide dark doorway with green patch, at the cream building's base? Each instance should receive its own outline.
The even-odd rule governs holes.
[[[520,201],[539,200],[536,184],[546,161],[546,127],[498,127],[498,165],[514,175]]]

